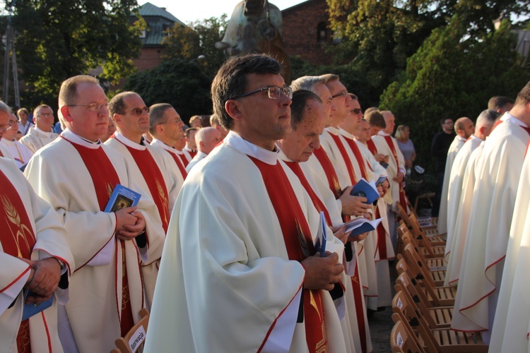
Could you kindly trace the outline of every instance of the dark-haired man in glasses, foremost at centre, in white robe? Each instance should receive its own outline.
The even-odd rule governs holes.
[[[337,253],[314,256],[319,213],[276,153],[291,131],[280,72],[254,54],[225,62],[213,80],[214,112],[231,131],[179,194],[148,351],[346,351],[326,290],[343,265]],[[328,234],[326,249],[340,252]]]

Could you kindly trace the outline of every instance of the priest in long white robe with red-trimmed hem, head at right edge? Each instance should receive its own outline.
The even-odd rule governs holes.
[[[489,342],[507,251],[508,234],[530,137],[530,83],[485,141],[478,161],[469,232],[451,328],[480,331]]]

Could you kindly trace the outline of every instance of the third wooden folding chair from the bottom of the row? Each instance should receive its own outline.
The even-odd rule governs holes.
[[[429,301],[421,300],[421,294],[416,291],[416,288],[411,283],[411,278],[406,273],[401,273],[396,278],[396,285],[394,286],[396,292],[404,292],[408,300],[416,305],[420,313],[422,313],[425,321],[430,328],[449,328],[453,318],[453,306],[432,306]]]

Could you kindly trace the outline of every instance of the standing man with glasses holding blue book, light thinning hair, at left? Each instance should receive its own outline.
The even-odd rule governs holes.
[[[65,80],[59,91],[61,136],[38,150],[25,169],[37,194],[64,222],[75,261],[70,300],[59,306],[59,335],[66,352],[108,352],[139,321],[145,307],[141,261],[148,261],[158,212],[142,196],[138,208],[104,212],[114,187],[139,187],[122,155],[102,145],[107,97],[91,76]]]

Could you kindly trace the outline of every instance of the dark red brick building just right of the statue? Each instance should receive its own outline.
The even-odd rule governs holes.
[[[326,0],[307,0],[281,11],[283,47],[289,56],[312,64],[327,64],[324,44],[333,43]]]

